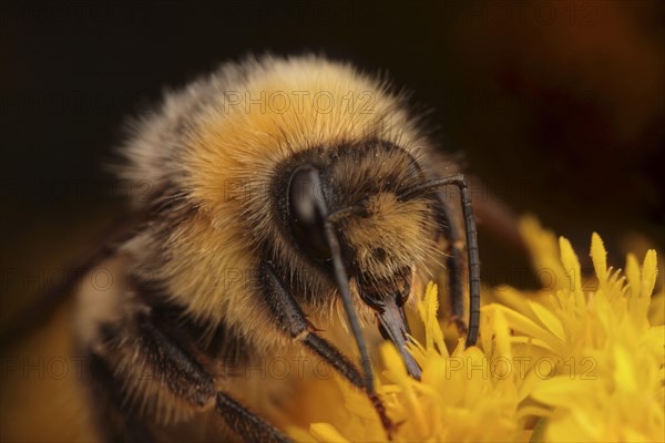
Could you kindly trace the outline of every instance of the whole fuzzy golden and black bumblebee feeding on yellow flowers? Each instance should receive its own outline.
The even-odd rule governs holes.
[[[443,268],[467,346],[479,322],[467,182],[408,109],[351,65],[267,55],[167,93],[132,125],[116,171],[143,192],[84,259],[116,284],[78,295],[102,440],[289,441],[278,409],[291,381],[228,369],[300,353],[365,391],[390,437],[368,342],[392,341],[419,378],[406,309]]]

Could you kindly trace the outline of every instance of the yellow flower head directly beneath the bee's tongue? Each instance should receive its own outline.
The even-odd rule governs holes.
[[[407,373],[390,343],[381,347],[383,380],[378,391],[388,414],[401,423],[393,440],[430,442],[488,442],[526,440],[518,404],[522,400],[511,374],[493,375],[491,361],[479,348],[464,349],[460,340],[448,353],[437,318],[437,287],[428,286],[420,303],[426,346],[412,353],[422,368],[421,381]],[[366,396],[344,381],[345,405],[351,414],[332,423],[315,423],[309,432],[318,441],[382,441],[386,434]],[[294,436],[307,439],[301,432]]]

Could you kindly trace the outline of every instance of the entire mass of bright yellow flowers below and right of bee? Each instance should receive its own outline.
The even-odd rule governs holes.
[[[594,234],[595,279],[583,280],[565,238],[556,240],[530,218],[522,234],[542,288],[535,293],[485,289],[483,298],[495,301],[482,308],[478,347],[464,349],[460,340],[449,352],[432,284],[418,306],[422,344],[411,348],[422,379],[408,375],[392,344],[381,347],[377,390],[389,416],[401,423],[393,440],[664,441],[665,327],[657,307],[665,306],[665,297],[652,297],[656,253],[649,250],[642,265],[628,255],[624,276],[607,267]],[[318,408],[317,416],[326,419],[308,431],[291,429],[291,436],[386,439],[361,392],[340,379],[329,384],[326,389],[340,393],[338,403],[301,405]]]

